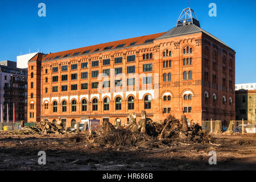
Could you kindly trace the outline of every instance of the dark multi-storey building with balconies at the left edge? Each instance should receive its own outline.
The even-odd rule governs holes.
[[[0,98],[3,122],[7,120],[7,104],[9,122],[13,122],[13,111],[15,122],[27,121],[27,68],[17,68],[14,61],[0,61]]]

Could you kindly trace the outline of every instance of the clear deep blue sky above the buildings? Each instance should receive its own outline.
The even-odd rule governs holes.
[[[46,4],[46,17],[38,4]],[[217,17],[208,15],[216,3]],[[1,0],[0,60],[29,52],[58,52],[114,40],[164,32],[175,27],[188,1]],[[256,22],[251,0],[190,0],[201,28],[233,48],[236,83],[256,82]]]

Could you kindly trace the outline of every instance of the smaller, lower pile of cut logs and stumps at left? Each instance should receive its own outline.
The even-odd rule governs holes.
[[[57,121],[56,125],[44,119],[42,122],[37,122],[35,126],[25,126],[21,129],[15,130],[14,134],[64,134],[64,133],[74,133],[76,130],[71,130],[69,128],[65,129],[61,121]]]

